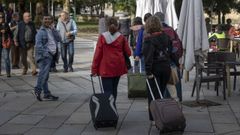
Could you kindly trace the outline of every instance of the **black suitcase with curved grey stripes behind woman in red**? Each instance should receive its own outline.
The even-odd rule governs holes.
[[[93,77],[91,82],[93,87],[93,95],[91,96],[89,107],[92,117],[92,123],[95,129],[102,127],[117,127],[118,113],[115,105],[115,99],[112,94],[105,94],[100,77],[99,84],[101,93],[95,92]]]

